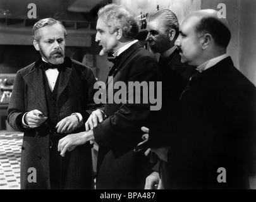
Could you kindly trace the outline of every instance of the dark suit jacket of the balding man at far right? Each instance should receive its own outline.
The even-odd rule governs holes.
[[[247,189],[255,163],[255,86],[230,57],[193,76],[188,86],[166,122],[168,189]]]

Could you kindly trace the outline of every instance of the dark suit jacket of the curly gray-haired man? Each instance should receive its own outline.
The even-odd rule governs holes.
[[[157,81],[155,57],[139,42],[119,57],[109,73],[113,76],[113,84],[123,81],[128,86],[129,81]],[[108,85],[107,92],[112,90]],[[118,89],[113,90],[114,95],[116,92]],[[126,90],[126,95],[128,93]],[[142,98],[143,91],[137,95]],[[107,119],[94,129],[99,145],[96,188],[143,189],[151,165],[143,151],[135,153],[133,148],[142,141],[140,128],[148,124],[150,103],[111,104],[107,98],[105,112]]]

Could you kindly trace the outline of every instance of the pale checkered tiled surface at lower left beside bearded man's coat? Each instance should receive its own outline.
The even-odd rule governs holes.
[[[23,133],[0,132],[0,189],[20,189],[20,152]]]

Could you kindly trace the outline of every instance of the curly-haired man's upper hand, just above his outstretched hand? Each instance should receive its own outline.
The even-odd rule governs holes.
[[[85,130],[89,131],[96,128],[106,117],[106,114],[100,109],[93,111],[90,117],[88,117],[87,122],[85,122]]]

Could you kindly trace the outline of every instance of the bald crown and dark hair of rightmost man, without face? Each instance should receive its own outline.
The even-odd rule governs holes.
[[[191,20],[192,18],[194,20],[196,19],[197,25],[195,26],[195,32],[198,35],[209,33],[212,35],[216,45],[226,48],[231,39],[231,32],[226,18],[218,18],[217,14],[218,11],[214,9],[202,9],[190,13],[184,21]]]

